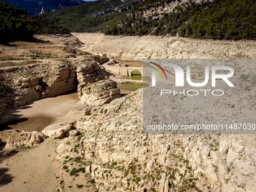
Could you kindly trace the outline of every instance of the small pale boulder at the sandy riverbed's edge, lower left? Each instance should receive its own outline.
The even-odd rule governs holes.
[[[44,128],[41,131],[46,136],[49,136],[52,139],[63,139],[69,136],[69,132],[75,130],[74,123],[63,122],[55,123]]]

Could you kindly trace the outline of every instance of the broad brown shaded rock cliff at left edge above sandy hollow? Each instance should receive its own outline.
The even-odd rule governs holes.
[[[0,69],[5,86],[12,90],[9,97],[13,99],[14,107],[75,89],[75,70],[69,62],[49,61],[44,64]]]

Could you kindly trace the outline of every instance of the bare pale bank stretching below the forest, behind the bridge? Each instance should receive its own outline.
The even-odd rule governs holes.
[[[212,41],[156,36],[111,36],[73,33],[84,45],[81,50],[107,53],[123,59],[219,59],[255,58],[255,41]],[[113,46],[114,44],[114,46]]]

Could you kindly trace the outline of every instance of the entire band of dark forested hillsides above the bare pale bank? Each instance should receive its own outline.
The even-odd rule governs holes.
[[[178,2],[172,11],[159,11]],[[179,35],[190,38],[255,39],[256,3],[215,0],[99,0],[34,17],[0,0],[0,42],[32,40],[33,34],[104,32],[107,35]],[[153,10],[153,11],[152,11]],[[158,11],[158,12],[157,12]],[[145,14],[150,13],[150,14]]]

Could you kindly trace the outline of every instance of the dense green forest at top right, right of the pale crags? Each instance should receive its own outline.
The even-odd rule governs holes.
[[[190,38],[255,39],[255,1],[225,0],[209,5],[181,25],[178,35]]]

